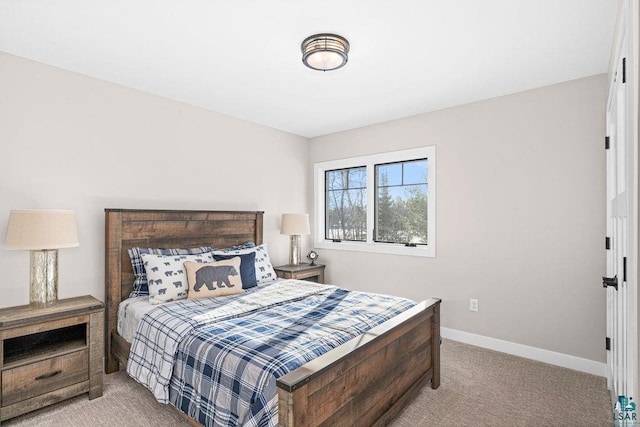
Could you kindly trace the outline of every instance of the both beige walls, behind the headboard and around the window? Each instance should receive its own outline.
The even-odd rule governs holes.
[[[311,213],[314,162],[435,144],[437,257],[319,251],[328,280],[438,296],[444,327],[604,361],[604,75],[310,144],[3,53],[0,94],[0,239],[11,209],[74,209],[60,297],[103,299],[106,207],[264,210],[285,263],[280,214]],[[0,307],[28,302],[28,259],[0,249]]]

